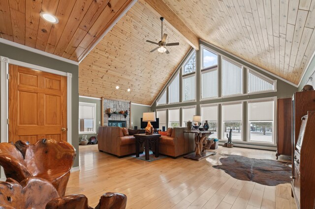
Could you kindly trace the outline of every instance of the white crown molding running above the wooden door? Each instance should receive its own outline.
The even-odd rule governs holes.
[[[34,53],[37,53],[37,54],[48,56],[48,57],[53,58],[53,59],[58,59],[58,60],[63,61],[63,62],[68,62],[68,63],[73,64],[73,65],[79,65],[79,62],[73,61],[71,59],[66,59],[64,57],[57,56],[57,55],[52,54],[52,53],[40,51],[40,50],[34,49],[32,47],[28,47],[28,46],[25,46],[25,45],[22,45],[22,44],[18,44],[18,43],[15,43],[13,41],[9,41],[9,40],[3,39],[3,38],[0,38],[0,43],[7,44],[7,45],[10,45],[12,47],[20,48],[22,50],[26,50],[26,51],[29,51],[29,52],[34,52]]]

